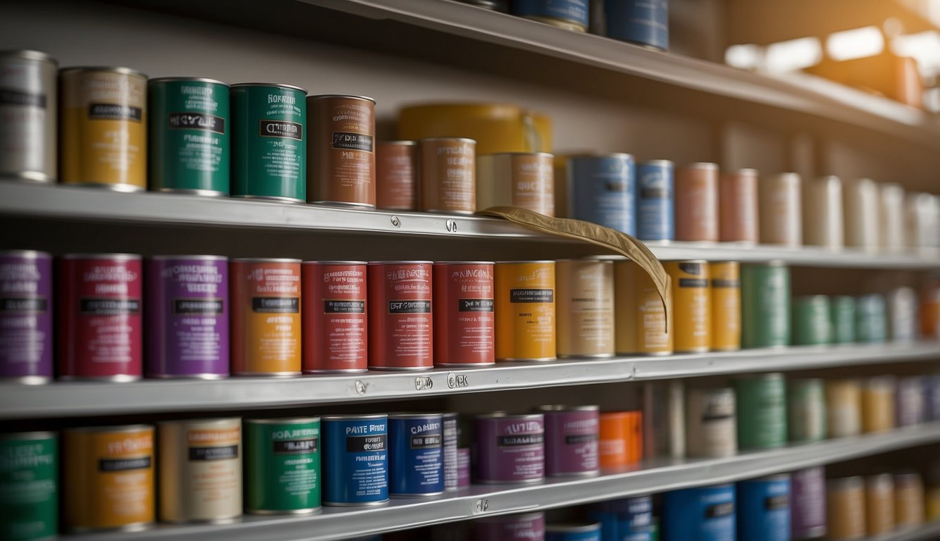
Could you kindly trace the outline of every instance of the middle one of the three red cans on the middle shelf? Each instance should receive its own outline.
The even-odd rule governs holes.
[[[368,367],[432,368],[431,261],[371,262],[368,285]]]

